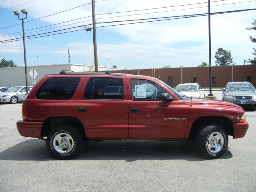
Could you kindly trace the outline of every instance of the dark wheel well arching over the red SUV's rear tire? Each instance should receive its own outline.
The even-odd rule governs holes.
[[[46,120],[44,120],[41,137],[42,138],[46,137],[51,129],[54,129],[56,126],[59,126],[61,124],[69,124],[69,125],[75,126],[78,129],[78,131],[80,131],[82,137],[84,139],[86,138],[84,126],[82,125],[80,120],[75,117],[66,117],[66,116],[49,117]]]

